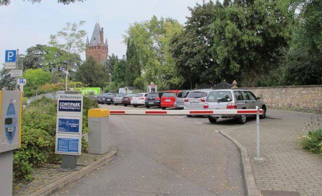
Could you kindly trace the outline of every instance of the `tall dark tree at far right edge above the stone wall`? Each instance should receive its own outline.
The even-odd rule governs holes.
[[[290,48],[286,54],[285,83],[307,85],[322,83],[322,2],[293,1],[300,13],[295,15]]]

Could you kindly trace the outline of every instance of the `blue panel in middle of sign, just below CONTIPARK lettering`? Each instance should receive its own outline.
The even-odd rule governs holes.
[[[79,133],[79,117],[58,117],[58,132]]]

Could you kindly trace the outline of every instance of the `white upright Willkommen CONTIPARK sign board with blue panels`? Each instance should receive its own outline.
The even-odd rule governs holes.
[[[58,92],[56,154],[81,155],[83,94]]]

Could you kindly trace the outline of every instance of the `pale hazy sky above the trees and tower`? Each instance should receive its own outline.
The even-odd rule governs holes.
[[[202,0],[87,0],[69,5],[58,4],[57,0],[42,0],[34,3],[12,0],[9,6],[0,6],[0,68],[5,63],[5,51],[19,49],[26,54],[27,48],[36,44],[48,45],[50,34],[56,34],[67,22],[86,21],[81,28],[89,40],[96,21],[104,28],[109,55],[119,58],[126,53],[122,35],[130,24],[151,19],[155,15],[186,22],[190,16],[188,7],[193,8]],[[86,37],[84,38],[86,42]],[[85,60],[85,52],[81,53]]]

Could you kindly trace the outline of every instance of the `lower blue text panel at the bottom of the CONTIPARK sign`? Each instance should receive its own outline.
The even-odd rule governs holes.
[[[79,138],[68,137],[68,136],[58,136],[56,151],[62,152],[62,153],[78,153]]]

